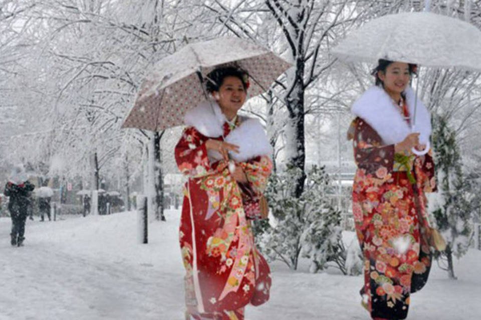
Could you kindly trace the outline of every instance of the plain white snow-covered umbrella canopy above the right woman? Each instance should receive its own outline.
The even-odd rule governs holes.
[[[386,59],[481,71],[481,31],[432,12],[388,14],[351,32],[332,52],[346,61]]]

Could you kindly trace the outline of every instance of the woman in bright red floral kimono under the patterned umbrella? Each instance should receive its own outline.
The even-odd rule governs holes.
[[[259,120],[237,115],[248,74],[222,67],[207,78],[212,99],[186,113],[175,147],[189,178],[180,221],[186,319],[242,320],[248,303],[269,299],[270,269],[249,218],[259,215],[271,146]]]

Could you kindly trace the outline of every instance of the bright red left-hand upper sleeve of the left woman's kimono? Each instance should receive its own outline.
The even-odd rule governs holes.
[[[206,140],[194,127],[185,128],[174,150],[180,172],[190,177],[198,177],[210,171]]]

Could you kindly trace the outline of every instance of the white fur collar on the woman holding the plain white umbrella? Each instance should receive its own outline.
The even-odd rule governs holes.
[[[417,99],[417,111],[414,132],[420,132],[419,142],[426,143],[431,135],[431,116],[424,104],[416,97],[414,90],[407,87],[404,91],[409,114],[414,114],[414,101]],[[365,120],[381,136],[385,144],[398,143],[411,133],[411,128],[404,121],[391,97],[379,86],[367,89],[353,104],[352,113]]]

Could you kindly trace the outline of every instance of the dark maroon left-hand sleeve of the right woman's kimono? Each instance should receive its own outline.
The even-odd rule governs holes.
[[[348,138],[353,139],[354,160],[367,174],[375,174],[380,168],[392,173],[394,144],[382,145],[377,132],[363,119],[356,118],[349,128]]]

